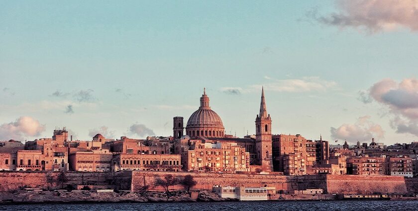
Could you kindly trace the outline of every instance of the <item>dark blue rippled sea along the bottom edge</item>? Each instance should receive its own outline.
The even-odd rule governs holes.
[[[8,205],[0,211],[417,211],[418,201],[298,201]]]

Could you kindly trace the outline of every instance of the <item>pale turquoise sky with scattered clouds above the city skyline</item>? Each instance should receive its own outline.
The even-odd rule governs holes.
[[[227,134],[418,141],[418,0],[0,0],[0,140]]]

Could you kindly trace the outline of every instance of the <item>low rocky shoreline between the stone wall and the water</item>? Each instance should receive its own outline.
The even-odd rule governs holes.
[[[104,192],[96,191],[17,191],[0,193],[0,205],[43,203],[161,203],[161,202],[222,202],[236,199],[220,198],[217,194],[200,191],[190,197],[187,191],[165,192]]]

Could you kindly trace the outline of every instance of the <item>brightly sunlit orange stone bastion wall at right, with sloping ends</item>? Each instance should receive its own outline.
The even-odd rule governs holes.
[[[402,176],[326,175],[329,194],[407,193]]]

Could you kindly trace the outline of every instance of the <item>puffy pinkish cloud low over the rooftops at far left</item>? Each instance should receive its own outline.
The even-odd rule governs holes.
[[[24,140],[25,137],[39,136],[45,131],[45,125],[32,117],[19,117],[14,122],[0,125],[0,140]]]

